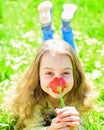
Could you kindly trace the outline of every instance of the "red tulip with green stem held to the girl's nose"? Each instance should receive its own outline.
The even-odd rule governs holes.
[[[64,91],[65,88],[65,80],[63,78],[54,78],[51,82],[50,82],[50,88],[52,89],[52,91],[54,93],[60,94],[60,100],[61,100],[61,105],[62,107],[65,106],[64,100],[62,98],[62,92]]]

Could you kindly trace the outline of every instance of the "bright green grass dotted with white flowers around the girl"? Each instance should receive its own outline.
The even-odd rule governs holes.
[[[100,93],[86,122],[86,130],[104,129],[104,1],[51,0],[55,33],[61,37],[63,3],[74,3],[78,10],[71,25],[79,57],[86,74]],[[6,90],[21,77],[41,43],[37,6],[42,0],[0,0],[0,104]],[[11,130],[15,121],[0,107],[0,130]]]

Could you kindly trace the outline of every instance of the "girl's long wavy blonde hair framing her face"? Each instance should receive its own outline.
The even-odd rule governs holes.
[[[92,102],[89,98],[90,85],[86,81],[85,72],[78,55],[63,40],[47,40],[40,46],[33,62],[17,85],[13,96],[14,99],[10,104],[10,109],[18,117],[17,127],[23,127],[23,122],[33,114],[35,105],[40,103],[40,101],[45,102],[48,96],[43,92],[39,83],[40,62],[46,52],[65,54],[71,58],[74,86],[67,94],[66,104],[73,104],[80,112],[88,111],[91,108]]]

